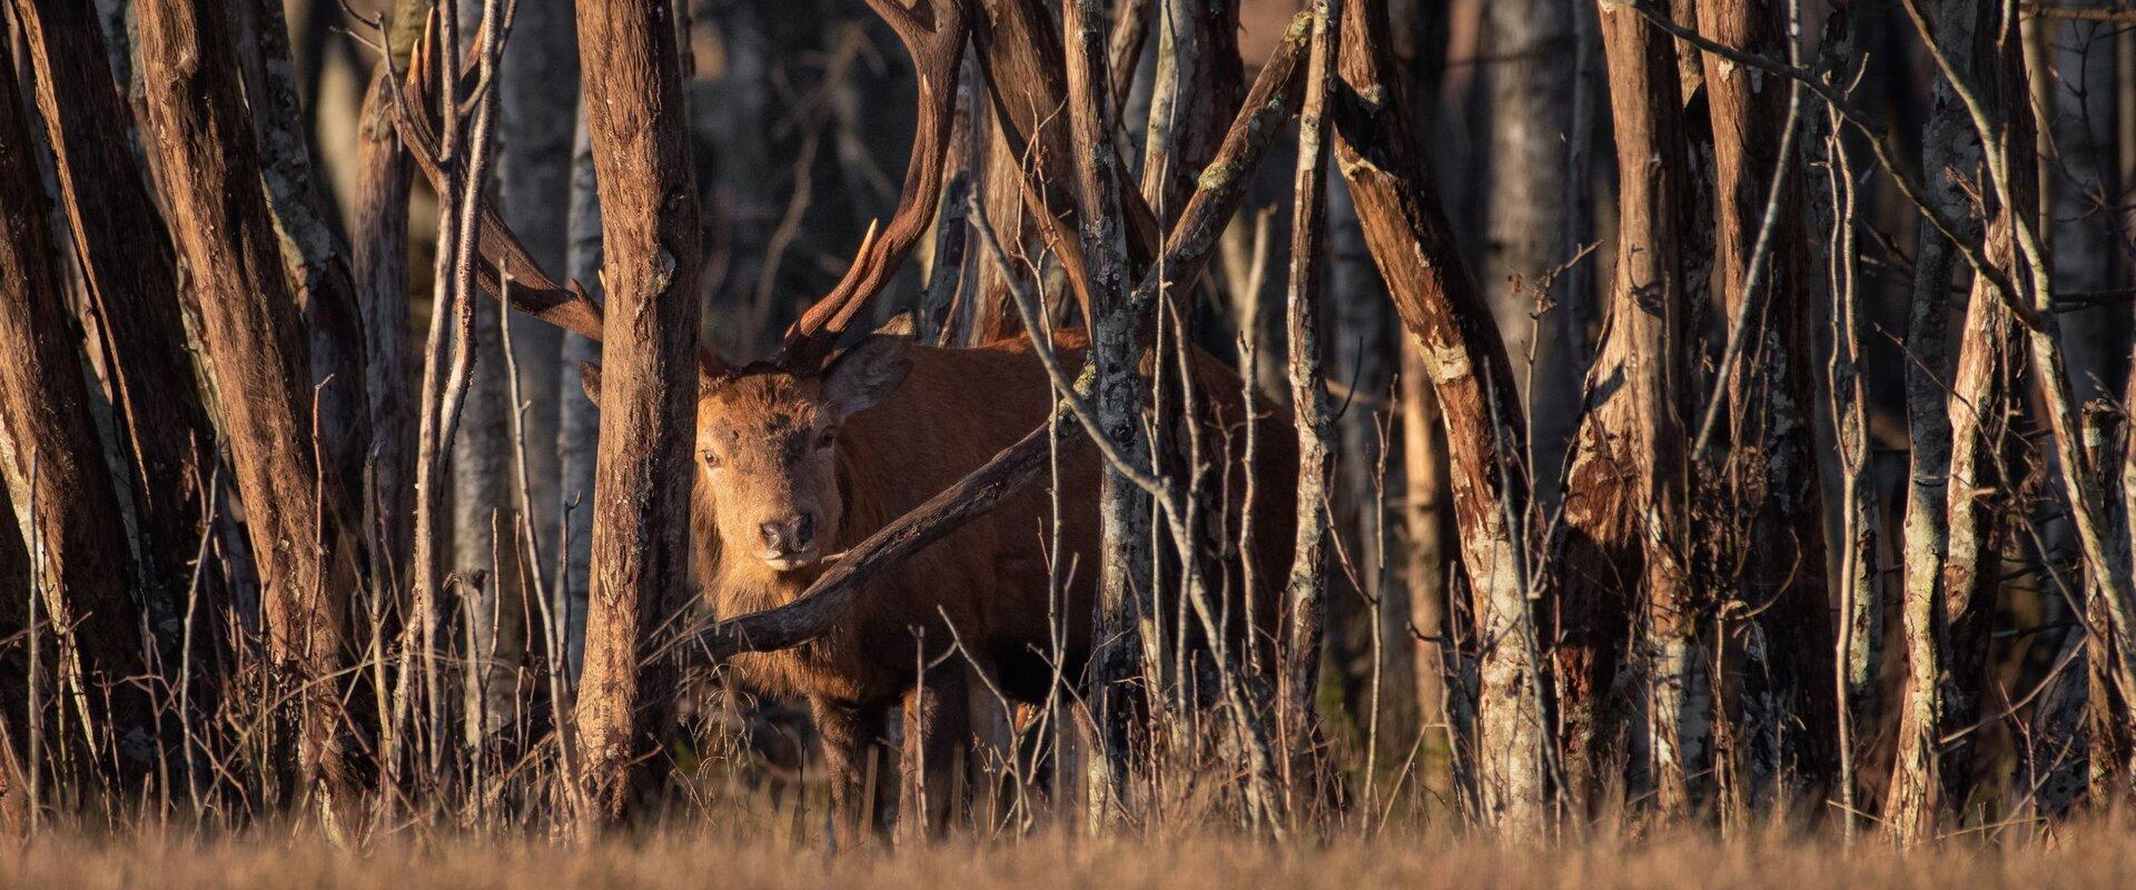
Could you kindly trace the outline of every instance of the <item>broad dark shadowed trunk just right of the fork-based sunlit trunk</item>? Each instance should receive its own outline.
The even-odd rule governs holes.
[[[1722,45],[1788,58],[1784,0],[1700,0],[1698,30]],[[1831,775],[1833,726],[1831,659],[1786,657],[1833,647],[1831,598],[1824,583],[1824,510],[1818,491],[1816,429],[1809,406],[1809,318],[1803,207],[1805,181],[1794,158],[1788,109],[1792,83],[1702,53],[1707,109],[1713,120],[1715,267],[1722,309],[1752,324],[1745,359],[1722,369],[1732,442],[1719,484],[1747,519],[1741,540],[1741,578],[1732,598],[1743,615],[1728,630],[1726,677],[1741,677],[1737,702],[1741,768],[1752,802],[1771,802],[1796,777],[1813,788]],[[1781,181],[1775,186],[1773,177]],[[1766,226],[1771,220],[1771,226]],[[1766,254],[1752,265],[1760,237]],[[1732,331],[1730,331],[1732,335]],[[1705,431],[1702,431],[1705,433]],[[1737,559],[1730,559],[1734,563]],[[1762,615],[1758,615],[1762,610]],[[1719,751],[1717,751],[1719,753]]]

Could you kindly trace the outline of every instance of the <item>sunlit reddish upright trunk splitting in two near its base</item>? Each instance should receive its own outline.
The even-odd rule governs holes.
[[[1566,484],[1561,662],[1581,677],[1564,694],[1570,747],[1600,758],[1598,709],[1623,647],[1617,619],[1638,610],[1645,638],[1653,783],[1664,811],[1690,807],[1690,777],[1707,756],[1707,726],[1690,706],[1700,674],[1702,615],[1683,553],[1685,514],[1685,280],[1681,271],[1683,134],[1677,47],[1638,13],[1600,2],[1617,132],[1617,277],[1608,337],[1591,380],[1611,382],[1581,425]],[[1593,617],[1583,625],[1581,617]],[[1589,762],[1589,766],[1600,766]],[[1574,770],[1570,781],[1596,781]]]

